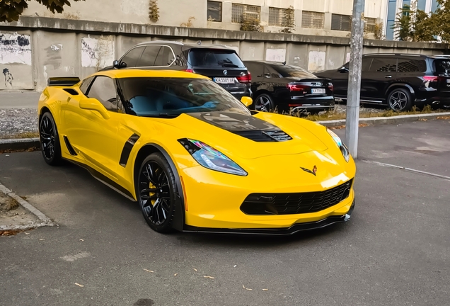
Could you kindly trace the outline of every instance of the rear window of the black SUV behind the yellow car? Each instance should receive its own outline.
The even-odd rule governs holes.
[[[233,50],[192,49],[189,63],[192,67],[246,67]]]

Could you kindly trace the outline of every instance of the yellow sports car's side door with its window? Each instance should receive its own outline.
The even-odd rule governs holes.
[[[80,95],[81,96],[81,95]],[[108,111],[105,119],[98,111],[80,108],[83,98],[96,98]],[[115,80],[98,76],[89,84],[86,94],[71,99],[64,108],[67,141],[88,166],[116,179],[119,157],[117,153],[117,130],[120,113],[117,113],[117,89]]]

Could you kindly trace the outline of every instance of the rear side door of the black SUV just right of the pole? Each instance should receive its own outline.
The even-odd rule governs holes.
[[[385,103],[386,90],[396,77],[396,57],[373,57],[369,71],[361,79],[361,101]]]

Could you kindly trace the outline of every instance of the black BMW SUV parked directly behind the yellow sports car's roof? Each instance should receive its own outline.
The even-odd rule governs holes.
[[[105,69],[171,69],[210,77],[233,96],[251,96],[250,73],[236,51],[223,45],[152,41],[135,45]]]

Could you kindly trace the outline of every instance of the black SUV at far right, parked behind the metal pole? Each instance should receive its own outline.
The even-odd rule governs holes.
[[[347,99],[348,67],[316,73],[331,79],[336,99]],[[361,103],[409,111],[413,105],[450,106],[450,57],[369,54],[362,57]]]

